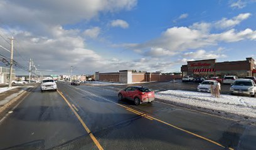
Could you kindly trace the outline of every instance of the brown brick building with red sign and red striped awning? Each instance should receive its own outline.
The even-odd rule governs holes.
[[[225,61],[216,63],[216,59],[199,61],[188,61],[188,64],[181,66],[181,73],[189,76],[256,76],[256,65],[253,58],[246,58],[244,61]]]

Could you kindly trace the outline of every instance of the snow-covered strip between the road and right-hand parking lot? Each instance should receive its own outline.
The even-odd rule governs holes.
[[[214,98],[210,93],[180,90],[159,92],[156,98],[256,118],[256,98],[231,95]]]

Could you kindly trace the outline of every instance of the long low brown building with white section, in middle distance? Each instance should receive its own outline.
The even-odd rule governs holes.
[[[181,79],[181,74],[165,75],[161,73],[132,73],[131,70],[122,70],[118,73],[95,73],[96,81],[109,81],[124,84],[171,81],[173,79]]]

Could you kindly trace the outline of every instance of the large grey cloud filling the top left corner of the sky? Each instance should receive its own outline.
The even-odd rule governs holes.
[[[51,27],[90,21],[100,13],[131,10],[137,0],[40,0],[0,1],[0,21],[9,27],[48,36]],[[12,11],[9,11],[12,10]]]

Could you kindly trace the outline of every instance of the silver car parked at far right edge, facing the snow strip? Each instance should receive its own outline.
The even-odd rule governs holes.
[[[230,93],[255,97],[256,84],[252,79],[237,79],[230,88]]]

